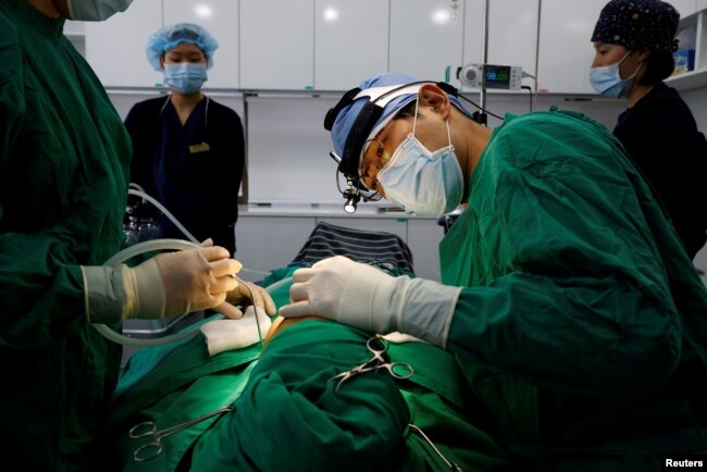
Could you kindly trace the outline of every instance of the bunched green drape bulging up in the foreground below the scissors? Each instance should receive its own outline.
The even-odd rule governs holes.
[[[408,409],[389,375],[328,380],[370,358],[370,334],[303,321],[268,345],[248,386],[197,444],[191,471],[387,470]]]

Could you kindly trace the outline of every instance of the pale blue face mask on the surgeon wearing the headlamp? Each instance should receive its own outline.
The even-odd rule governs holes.
[[[386,200],[407,212],[439,216],[454,211],[463,196],[464,178],[455,154],[447,124],[449,145],[434,152],[414,137],[418,120],[415,107],[412,133],[398,146],[376,179]]]

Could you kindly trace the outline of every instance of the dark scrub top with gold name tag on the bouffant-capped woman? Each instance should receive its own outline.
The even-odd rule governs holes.
[[[240,117],[204,97],[184,125],[168,97],[136,103],[125,120],[133,139],[131,182],[162,203],[198,240],[235,252],[245,163]],[[186,236],[165,216],[162,237]]]

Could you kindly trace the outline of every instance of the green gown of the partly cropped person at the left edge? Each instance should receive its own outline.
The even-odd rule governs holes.
[[[121,249],[131,144],[63,24],[0,0],[0,451],[33,471],[91,470],[121,359],[79,265]]]

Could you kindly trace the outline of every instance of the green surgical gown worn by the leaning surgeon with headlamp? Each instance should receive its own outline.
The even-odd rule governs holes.
[[[498,437],[544,460],[707,451],[707,290],[619,141],[579,113],[508,114],[470,190],[439,247],[466,287],[448,348]]]

